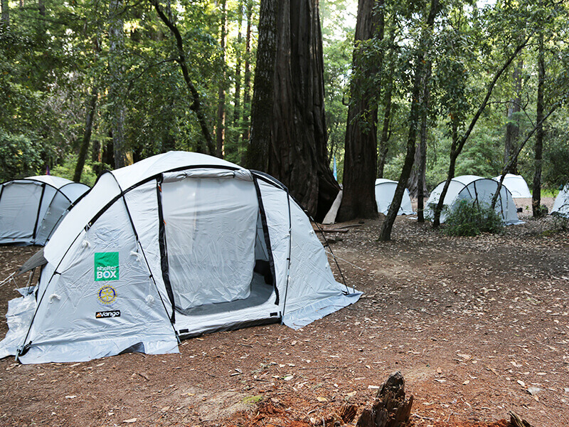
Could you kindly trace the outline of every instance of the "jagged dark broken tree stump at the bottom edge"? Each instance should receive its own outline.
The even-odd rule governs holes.
[[[356,427],[409,426],[412,405],[413,396],[405,400],[405,380],[397,371],[381,386],[371,408],[363,410]]]

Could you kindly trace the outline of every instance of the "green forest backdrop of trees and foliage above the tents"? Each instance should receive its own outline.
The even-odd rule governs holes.
[[[172,149],[246,166],[259,14],[270,1],[2,0],[1,179],[49,169],[93,184],[104,169]],[[302,2],[289,3],[294,22]],[[463,136],[456,175],[506,168],[530,183],[539,165],[546,191],[569,181],[567,2],[360,3],[376,23],[355,43],[358,1],[302,3],[320,19],[324,161],[336,162],[340,184],[354,123],[375,132],[373,178],[395,180],[416,125],[425,168],[414,162],[414,194],[418,175],[426,191],[447,179]]]

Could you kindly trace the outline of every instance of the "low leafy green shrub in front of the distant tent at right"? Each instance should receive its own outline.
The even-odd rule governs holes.
[[[448,236],[478,236],[480,233],[500,233],[504,229],[504,221],[494,209],[469,200],[461,200],[445,223],[443,231]]]

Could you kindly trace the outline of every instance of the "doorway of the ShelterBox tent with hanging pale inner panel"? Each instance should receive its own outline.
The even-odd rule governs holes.
[[[204,315],[265,302],[272,285],[254,272],[265,251],[258,247],[260,214],[252,181],[181,176],[165,180],[161,189],[176,310]]]

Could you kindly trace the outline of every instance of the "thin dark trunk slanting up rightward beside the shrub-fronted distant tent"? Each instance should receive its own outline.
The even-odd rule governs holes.
[[[442,212],[442,206],[445,204],[445,197],[447,196],[447,192],[448,192],[448,189],[450,186],[450,181],[452,181],[452,179],[454,178],[454,169],[455,169],[456,164],[457,164],[457,158],[458,158],[460,152],[462,152],[462,148],[464,147],[464,144],[467,142],[467,139],[470,136],[472,130],[474,129],[474,126],[477,124],[478,119],[480,118],[480,115],[482,115],[482,112],[486,108],[486,105],[488,104],[488,100],[490,99],[490,96],[492,95],[492,92],[494,91],[494,86],[496,85],[496,82],[498,81],[500,76],[502,74],[504,74],[504,71],[506,71],[508,69],[511,62],[516,58],[516,56],[518,56],[518,54],[521,52],[521,50],[528,44],[528,41],[531,38],[531,36],[533,36],[533,32],[522,43],[520,43],[518,46],[516,46],[516,49],[509,56],[509,58],[506,59],[506,62],[504,63],[504,65],[502,65],[502,67],[496,72],[496,74],[494,75],[494,78],[491,80],[490,84],[488,85],[488,88],[486,88],[486,96],[484,96],[484,100],[482,100],[482,103],[478,107],[477,112],[474,114],[474,117],[472,117],[472,120],[470,121],[470,125],[469,125],[467,131],[464,133],[462,138],[460,138],[460,140],[457,142],[457,144],[456,145],[453,144],[453,146],[451,147],[449,172],[447,175],[447,181],[445,181],[445,185],[442,187],[442,192],[439,196],[439,201],[437,202],[437,206],[435,207],[435,218],[433,218],[433,221],[432,221],[432,226],[434,228],[437,228],[438,226],[440,226],[440,214]]]

